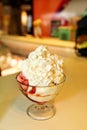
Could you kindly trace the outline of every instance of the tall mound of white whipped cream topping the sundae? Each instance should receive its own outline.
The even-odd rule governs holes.
[[[39,46],[21,62],[22,74],[29,85],[48,86],[58,84],[63,76],[63,60],[51,54],[46,46]]]

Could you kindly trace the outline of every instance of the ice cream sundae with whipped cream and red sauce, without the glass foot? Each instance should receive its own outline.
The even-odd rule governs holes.
[[[20,63],[17,81],[20,89],[31,100],[44,103],[52,100],[63,82],[63,60],[41,45]],[[58,86],[57,86],[58,84]]]

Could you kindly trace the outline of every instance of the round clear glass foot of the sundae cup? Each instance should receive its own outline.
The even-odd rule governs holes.
[[[55,115],[55,107],[52,104],[33,104],[28,107],[27,114],[36,120],[47,120]]]

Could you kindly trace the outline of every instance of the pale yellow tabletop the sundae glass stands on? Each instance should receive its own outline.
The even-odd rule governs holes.
[[[49,120],[26,114],[32,102],[19,91],[16,74],[0,77],[0,130],[87,130],[87,59],[64,51],[62,57],[67,78]]]

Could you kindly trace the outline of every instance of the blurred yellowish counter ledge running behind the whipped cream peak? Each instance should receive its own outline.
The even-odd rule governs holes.
[[[13,35],[2,35],[1,42],[3,45],[10,48],[13,53],[27,56],[30,51],[34,50],[39,45],[45,45],[51,48],[51,50],[60,48],[71,51],[75,47],[74,41],[64,41],[58,38],[36,38],[31,35],[27,36],[13,36]]]

